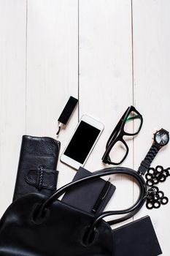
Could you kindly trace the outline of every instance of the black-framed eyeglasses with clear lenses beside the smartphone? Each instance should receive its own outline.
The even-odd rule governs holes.
[[[102,161],[109,165],[120,165],[128,155],[128,145],[123,136],[135,136],[142,128],[142,115],[134,108],[128,107],[107,141]]]

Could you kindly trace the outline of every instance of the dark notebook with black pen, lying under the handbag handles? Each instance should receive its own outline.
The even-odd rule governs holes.
[[[90,171],[80,167],[79,170],[77,170],[73,181],[85,178],[91,174]],[[77,185],[77,187],[66,192],[62,201],[69,206],[74,206],[82,211],[98,214],[104,211],[104,208],[107,206],[115,189],[116,187],[109,181],[104,181],[102,178],[96,178],[93,181],[87,181]]]

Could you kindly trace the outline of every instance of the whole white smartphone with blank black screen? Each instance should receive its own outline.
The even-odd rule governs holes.
[[[85,165],[90,152],[104,129],[104,124],[96,119],[83,115],[61,154],[61,162],[78,169]]]

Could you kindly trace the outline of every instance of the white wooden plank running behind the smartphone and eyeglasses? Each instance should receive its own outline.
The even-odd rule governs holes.
[[[85,167],[99,170],[105,145],[126,108],[133,104],[131,1],[80,0],[80,116],[88,113],[105,129]],[[88,139],[88,135],[87,135]],[[123,165],[133,167],[133,142]],[[131,206],[133,183],[113,179],[117,186],[108,210]],[[126,196],[125,196],[126,195]]]

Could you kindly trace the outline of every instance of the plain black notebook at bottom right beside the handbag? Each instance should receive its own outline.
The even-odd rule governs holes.
[[[112,231],[114,256],[158,256],[162,254],[149,216]]]

